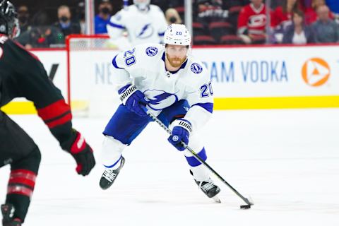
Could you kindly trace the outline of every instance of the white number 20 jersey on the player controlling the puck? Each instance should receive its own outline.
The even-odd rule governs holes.
[[[205,66],[190,56],[178,71],[165,67],[165,47],[162,44],[140,44],[117,54],[112,59],[114,83],[117,88],[134,84],[150,100],[148,109],[158,115],[179,100],[187,100],[189,111],[185,119],[198,129],[213,112],[213,89]]]

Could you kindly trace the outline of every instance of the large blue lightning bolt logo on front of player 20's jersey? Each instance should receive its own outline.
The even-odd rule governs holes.
[[[144,94],[148,97],[148,107],[155,111],[160,111],[178,101],[175,93],[166,93],[163,90],[146,90]]]

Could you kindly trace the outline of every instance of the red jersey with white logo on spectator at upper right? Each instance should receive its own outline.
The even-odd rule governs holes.
[[[273,18],[273,13],[270,13],[270,18]],[[253,4],[249,4],[242,8],[238,18],[238,31],[243,34],[248,30],[249,35],[262,36],[266,30],[266,6],[261,4],[260,8],[254,8]],[[271,20],[271,25],[274,21]]]

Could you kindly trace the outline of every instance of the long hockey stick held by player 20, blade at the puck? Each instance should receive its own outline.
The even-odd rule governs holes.
[[[168,127],[165,126],[165,124],[163,124],[162,121],[157,119],[157,117],[152,112],[150,112],[150,110],[148,110],[146,107],[143,107],[143,109],[145,110],[146,114],[148,114],[149,117],[151,117],[157,124],[159,124],[162,127],[162,129],[165,129],[165,131],[167,131],[167,133],[169,133],[169,135],[172,135],[172,131],[170,129],[168,129]],[[189,150],[190,153],[192,153],[192,155],[196,158],[196,160],[201,162],[201,164],[205,165],[210,170],[210,172],[213,172],[213,174],[215,174],[215,176],[218,177],[218,179],[220,179],[220,181],[222,181],[224,184],[226,184],[235,194],[237,194],[237,196],[242,198],[242,200],[247,205],[242,205],[242,206],[240,206],[240,208],[248,209],[248,208],[251,208],[252,205],[254,205],[253,201],[250,201],[249,198],[245,198],[244,196],[242,196],[242,194],[240,194],[236,189],[234,189],[230,184],[228,184],[226,182],[226,180],[223,179],[220,176],[220,174],[218,174],[218,172],[215,172],[215,170],[212,167],[210,167],[210,165],[208,165],[194,150],[192,150],[192,148],[190,148],[189,145],[186,145],[186,143],[184,143],[184,142],[182,142],[182,145],[184,146],[184,148]]]

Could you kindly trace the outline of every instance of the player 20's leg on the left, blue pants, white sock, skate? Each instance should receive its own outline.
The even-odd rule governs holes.
[[[132,143],[149,122],[147,115],[139,116],[124,105],[118,107],[103,132],[105,138],[102,143],[102,164],[105,172],[100,179],[102,189],[108,189],[117,179],[125,162],[121,155],[124,148]]]

